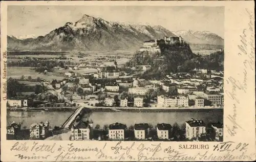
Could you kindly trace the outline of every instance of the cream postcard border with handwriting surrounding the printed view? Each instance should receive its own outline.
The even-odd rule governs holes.
[[[6,141],[6,100],[3,83],[4,53],[7,49],[8,5],[151,5],[151,6],[225,6],[225,62],[224,62],[224,144],[220,142],[78,142],[78,141]],[[250,17],[253,15],[253,18]],[[253,19],[253,21],[252,21]],[[252,25],[250,23],[252,22]],[[1,160],[2,161],[239,161],[255,160],[255,78],[254,2],[1,2]],[[245,30],[244,30],[245,29]],[[244,33],[245,32],[245,33]],[[246,34],[246,36],[243,36]],[[253,34],[253,37],[251,35]],[[247,54],[241,47],[241,36],[247,41]],[[240,45],[240,48],[239,48]],[[242,46],[241,46],[242,45]],[[254,50],[254,49],[253,49]],[[251,55],[253,54],[253,57]],[[252,61],[252,62],[251,62]],[[253,67],[250,69],[250,65]],[[245,74],[246,73],[246,74]],[[230,78],[231,77],[231,78]],[[227,95],[228,94],[228,95]],[[239,102],[237,100],[239,100]],[[236,112],[234,112],[234,106]],[[235,115],[236,114],[236,115]],[[229,116],[230,115],[230,116]],[[234,116],[235,115],[235,116]],[[232,120],[236,118],[236,120]],[[233,132],[233,133],[232,133]],[[234,133],[235,132],[235,133]],[[233,134],[233,135],[232,135]],[[228,142],[228,143],[225,143]],[[134,144],[133,144],[134,143]],[[241,145],[240,145],[241,143]],[[41,148],[39,145],[49,145]],[[75,152],[77,148],[90,148]],[[155,146],[152,146],[155,145]],[[222,145],[230,151],[221,151]],[[191,149],[179,149],[191,145]],[[208,149],[193,149],[204,145]],[[17,146],[20,146],[19,148]],[[123,149],[120,148],[122,146]],[[239,147],[238,147],[239,146]],[[237,148],[238,147],[238,148]],[[244,147],[244,148],[243,148]],[[70,148],[70,149],[69,149]],[[116,150],[119,148],[119,152]],[[241,148],[243,148],[241,150]],[[155,149],[155,150],[154,150]],[[219,150],[218,150],[219,149]],[[101,151],[100,151],[101,150]],[[130,150],[130,151],[129,151]],[[241,151],[240,151],[241,150]],[[69,153],[68,155],[66,155]],[[15,156],[16,155],[16,156]],[[31,159],[21,156],[34,157]],[[66,155],[66,157],[64,157]],[[76,157],[75,157],[76,156]],[[37,158],[38,157],[38,158]],[[69,157],[69,158],[68,158]],[[75,158],[72,158],[75,157]],[[89,158],[90,157],[90,158]]]

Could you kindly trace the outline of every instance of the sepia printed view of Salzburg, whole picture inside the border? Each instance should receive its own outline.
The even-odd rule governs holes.
[[[224,11],[8,6],[7,140],[223,142]]]

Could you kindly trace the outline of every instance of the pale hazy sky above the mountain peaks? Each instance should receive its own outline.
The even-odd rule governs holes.
[[[83,14],[106,21],[161,25],[169,31],[209,31],[224,38],[224,7],[8,6],[7,34],[44,36]]]

